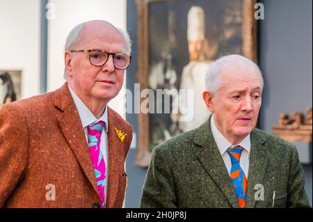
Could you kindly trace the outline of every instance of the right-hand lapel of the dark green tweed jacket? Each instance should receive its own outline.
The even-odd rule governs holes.
[[[251,133],[250,164],[246,197],[247,208],[255,207],[255,185],[263,184],[268,162],[268,155],[264,143],[265,138],[262,138],[258,129],[255,129]]]

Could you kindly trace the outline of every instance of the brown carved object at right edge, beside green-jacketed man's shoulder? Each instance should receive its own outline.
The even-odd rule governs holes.
[[[289,115],[280,113],[278,125],[273,126],[273,134],[294,142],[312,142],[312,107],[307,108],[304,118],[303,113],[294,112]]]

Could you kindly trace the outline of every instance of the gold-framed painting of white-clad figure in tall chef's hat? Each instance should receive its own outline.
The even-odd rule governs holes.
[[[136,166],[148,166],[155,145],[195,129],[208,118],[202,92],[205,72],[212,61],[227,54],[257,61],[255,3],[136,0],[136,81],[141,91],[148,88],[151,92],[148,98],[141,95],[141,104],[149,104],[149,113],[138,114]],[[184,113],[183,108],[188,111]],[[188,112],[192,118],[182,121],[182,115]]]

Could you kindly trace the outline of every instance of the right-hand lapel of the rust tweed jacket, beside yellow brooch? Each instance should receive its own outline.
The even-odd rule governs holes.
[[[109,106],[108,106],[109,108]],[[122,153],[122,142],[119,140],[115,129],[122,129],[122,127],[115,121],[115,114],[111,109],[108,109],[108,150],[109,150],[109,178],[108,178],[108,189],[106,198],[106,207],[111,208],[115,206],[115,200],[118,196],[119,180],[120,180],[120,166],[122,166],[121,158]]]

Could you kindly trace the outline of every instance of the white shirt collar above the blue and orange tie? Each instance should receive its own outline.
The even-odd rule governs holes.
[[[223,134],[221,134],[218,128],[216,127],[213,114],[211,117],[211,131],[212,131],[214,140],[216,142],[216,145],[218,146],[218,150],[220,151],[220,155],[223,156],[223,154],[226,152],[228,148],[234,147],[236,145],[240,145],[242,148],[244,148],[250,153],[250,148],[251,148],[250,134],[248,134],[248,136],[243,138],[243,141],[241,141],[238,144],[230,143],[230,141],[228,141],[227,138],[225,138],[225,136],[223,136]]]

